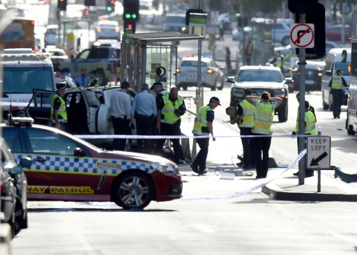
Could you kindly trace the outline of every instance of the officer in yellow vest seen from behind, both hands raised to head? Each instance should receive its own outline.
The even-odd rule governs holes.
[[[261,93],[260,98],[247,95],[245,99],[257,107],[252,133],[258,135],[252,139],[255,148],[255,164],[257,166],[256,178],[266,178],[269,167],[269,149],[271,148],[271,125],[275,108],[282,104],[282,98],[271,98],[268,92]],[[264,135],[266,137],[261,137]],[[263,153],[263,158],[261,158]]]

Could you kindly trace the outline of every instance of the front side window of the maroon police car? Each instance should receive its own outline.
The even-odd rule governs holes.
[[[73,155],[77,144],[60,134],[27,128],[32,153]]]

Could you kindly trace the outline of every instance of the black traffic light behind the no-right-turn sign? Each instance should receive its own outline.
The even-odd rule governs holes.
[[[300,23],[299,15],[295,16],[295,22]],[[314,24],[314,47],[305,49],[305,58],[322,59],[326,54],[325,7],[322,3],[317,3],[314,13],[306,14],[305,23]],[[298,48],[296,55],[299,55]]]

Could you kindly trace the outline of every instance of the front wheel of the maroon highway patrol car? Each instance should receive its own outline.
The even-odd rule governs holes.
[[[145,173],[123,173],[114,183],[114,202],[123,209],[145,208],[153,199],[153,189]]]

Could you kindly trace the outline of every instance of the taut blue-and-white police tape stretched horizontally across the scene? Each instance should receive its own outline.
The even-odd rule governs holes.
[[[139,134],[75,134],[75,137],[80,139],[202,139],[202,138],[230,138],[230,137],[311,137],[310,134],[253,134],[253,135],[139,135]]]

